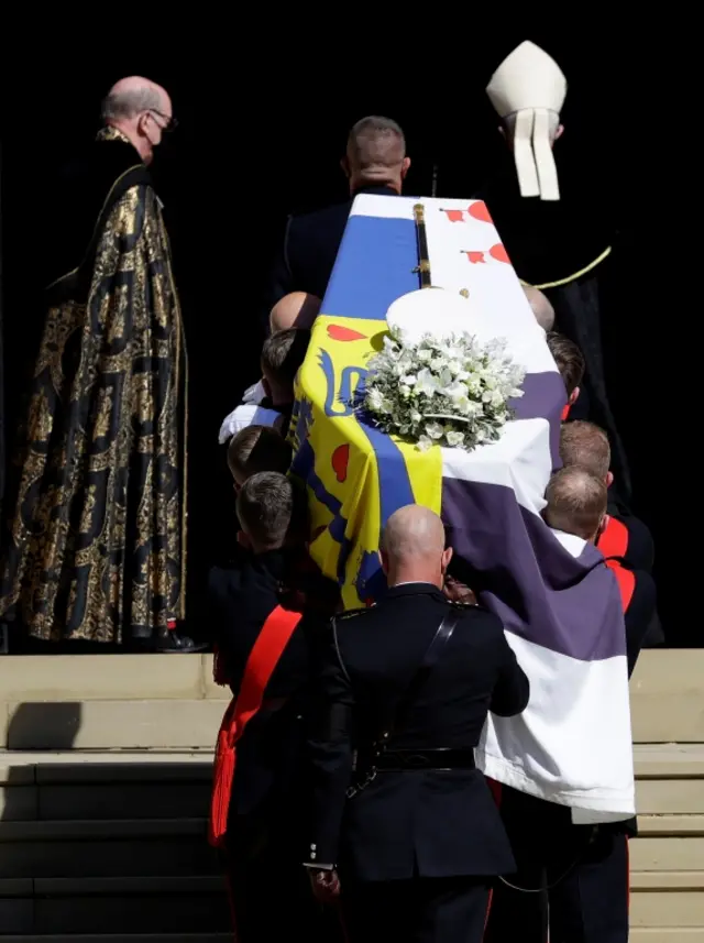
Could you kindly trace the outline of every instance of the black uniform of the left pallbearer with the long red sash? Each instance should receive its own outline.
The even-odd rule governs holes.
[[[292,560],[282,550],[243,553],[235,564],[211,570],[208,623],[235,695],[290,572]],[[294,929],[310,943],[337,940],[322,924],[298,853],[305,722],[319,631],[320,619],[305,615],[266,686],[262,709],[238,744],[226,854],[238,943],[274,943]]]

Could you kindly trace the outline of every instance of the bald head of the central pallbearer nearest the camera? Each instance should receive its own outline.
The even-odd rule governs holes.
[[[389,585],[422,582],[441,586],[452,551],[444,548],[440,517],[420,504],[408,504],[386,522],[381,555]]]

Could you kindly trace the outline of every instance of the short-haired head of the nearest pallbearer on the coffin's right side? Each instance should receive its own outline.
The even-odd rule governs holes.
[[[548,483],[544,518],[550,527],[595,541],[606,514],[606,483],[579,465],[560,469]]]

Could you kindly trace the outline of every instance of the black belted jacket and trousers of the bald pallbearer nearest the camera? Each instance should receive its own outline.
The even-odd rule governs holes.
[[[529,697],[499,619],[432,585],[399,585],[337,619],[323,666],[306,863],[338,867],[350,943],[479,943],[492,876],[514,863],[473,748],[490,710],[510,716]]]

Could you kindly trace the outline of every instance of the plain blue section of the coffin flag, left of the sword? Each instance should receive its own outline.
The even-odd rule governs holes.
[[[396,298],[420,288],[414,272],[417,265],[413,220],[350,217],[328,283],[323,314],[383,321]]]

